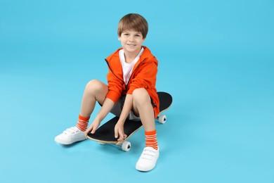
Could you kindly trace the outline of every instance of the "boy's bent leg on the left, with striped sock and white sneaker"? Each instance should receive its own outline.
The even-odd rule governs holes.
[[[55,138],[55,141],[60,144],[72,144],[76,141],[85,140],[84,131],[86,131],[86,127],[88,126],[89,117],[95,108],[96,101],[103,104],[107,92],[107,85],[98,80],[91,80],[86,84],[77,125],[59,134]]]

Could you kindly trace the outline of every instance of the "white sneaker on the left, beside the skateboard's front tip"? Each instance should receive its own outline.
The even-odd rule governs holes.
[[[79,130],[77,127],[70,127],[65,130],[62,134],[56,136],[55,141],[59,144],[69,145],[76,141],[85,140],[85,133]]]

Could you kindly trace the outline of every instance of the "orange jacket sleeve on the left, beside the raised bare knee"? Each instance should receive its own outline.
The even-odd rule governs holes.
[[[122,94],[124,82],[120,80],[119,78],[117,78],[112,73],[110,68],[108,69],[108,73],[107,73],[107,84],[108,84],[108,92],[106,97],[114,101],[114,103],[116,103]]]

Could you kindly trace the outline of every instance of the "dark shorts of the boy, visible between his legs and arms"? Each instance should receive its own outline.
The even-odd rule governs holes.
[[[113,108],[110,111],[110,113],[112,113],[112,114],[116,115],[117,117],[119,117],[121,115],[121,113],[122,113],[122,109],[124,107],[124,101],[125,101],[125,99],[126,99],[126,95],[122,95],[118,99],[117,103],[115,103],[115,105],[113,106]],[[140,121],[141,120],[140,117],[134,115],[134,113],[133,113],[132,110],[129,112],[129,115],[128,115],[128,117],[126,119],[133,120],[133,121]]]

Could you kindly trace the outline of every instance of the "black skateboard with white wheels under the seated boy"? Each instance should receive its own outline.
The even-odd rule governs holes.
[[[164,111],[171,106],[172,96],[167,92],[157,92],[159,96],[159,115],[157,117],[157,121],[159,123],[164,124],[167,121],[167,116],[162,115]],[[89,133],[88,138],[93,141],[98,141],[99,144],[114,144],[116,146],[121,146],[122,151],[129,151],[131,149],[131,143],[126,141],[129,139],[132,134],[134,134],[137,130],[139,130],[143,125],[141,121],[132,121],[126,120],[124,122],[124,134],[126,134],[126,139],[122,142],[122,144],[117,145],[117,139],[115,138],[115,125],[118,122],[119,117],[114,117],[111,120],[105,122],[103,125],[98,127],[94,134]]]

